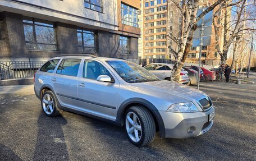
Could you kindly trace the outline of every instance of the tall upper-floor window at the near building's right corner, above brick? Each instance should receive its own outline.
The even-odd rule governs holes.
[[[126,4],[121,4],[122,24],[138,27],[137,10]]]

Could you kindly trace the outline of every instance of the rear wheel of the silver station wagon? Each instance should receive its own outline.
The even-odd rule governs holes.
[[[57,99],[51,90],[45,91],[41,98],[41,105],[44,114],[48,117],[59,116],[63,112],[60,108],[58,108]]]

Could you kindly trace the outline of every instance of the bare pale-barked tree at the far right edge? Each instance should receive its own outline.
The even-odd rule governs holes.
[[[245,12],[246,7],[252,5],[255,6],[255,2],[253,3],[254,4],[246,4],[246,0],[239,0],[234,3],[229,3],[228,1],[225,1],[223,2],[223,5],[220,8],[218,8],[218,10],[214,13],[213,26],[217,50],[221,56],[221,63],[225,63],[227,61],[228,51],[230,50],[231,45],[233,45],[233,61],[231,65],[233,67],[234,62],[236,60],[236,49],[238,45],[241,43],[241,39],[244,39],[243,35],[246,33],[245,31],[252,32],[255,30],[248,27],[249,25],[247,23],[248,21],[255,21],[255,16],[248,17],[248,13]],[[220,16],[221,12],[224,13],[222,17]],[[222,46],[220,45],[218,40],[218,19],[223,19],[223,23],[221,23],[221,27],[223,27]]]

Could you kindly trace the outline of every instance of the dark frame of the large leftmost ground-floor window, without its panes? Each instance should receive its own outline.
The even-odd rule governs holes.
[[[30,23],[28,21],[31,21],[32,23]],[[43,21],[43,22],[40,22],[40,21]],[[38,22],[40,24],[36,24],[36,22]],[[36,47],[36,49],[28,49],[28,47],[26,46],[27,50],[41,50],[41,51],[57,51],[58,50],[56,26],[54,25],[54,22],[47,21],[47,20],[42,20],[42,19],[35,19],[33,17],[23,16],[22,17],[22,24],[23,24],[23,28],[25,27],[24,25],[28,25],[28,26],[32,26],[32,29],[33,29],[33,39],[34,39],[33,42],[26,40],[26,35],[25,35],[25,30],[24,30],[25,44],[27,44],[27,43],[28,44],[33,44]],[[48,25],[43,25],[43,24],[48,24]],[[49,25],[52,25],[52,26],[49,26]],[[36,26],[52,28],[53,29],[53,35],[54,35],[54,42],[55,42],[55,44],[38,43],[38,40],[36,39],[36,30],[35,30]],[[55,50],[39,49],[38,45],[54,45],[56,47],[56,49]]]

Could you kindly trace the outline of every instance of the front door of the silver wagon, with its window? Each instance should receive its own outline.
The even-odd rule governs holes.
[[[104,63],[85,59],[80,77],[77,100],[83,112],[113,121],[116,120],[119,82]],[[97,77],[108,75],[114,82],[100,82]]]

